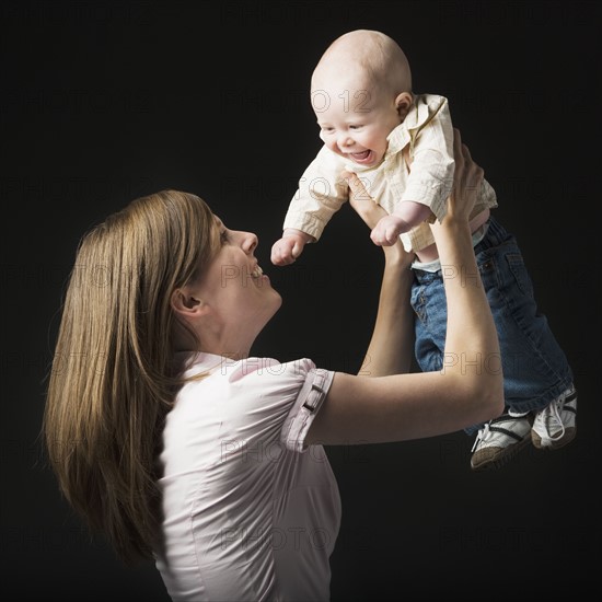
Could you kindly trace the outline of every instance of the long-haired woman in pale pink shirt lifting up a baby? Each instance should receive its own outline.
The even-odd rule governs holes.
[[[173,600],[327,600],[340,505],[323,444],[431,437],[503,408],[467,216],[483,177],[455,132],[455,193],[432,225],[449,306],[441,372],[408,374],[410,270],[385,268],[370,377],[250,357],[280,296],[198,197],[165,190],[88,233],[69,282],[45,436],[68,501]],[[381,209],[354,174],[350,202]],[[472,186],[467,186],[466,182]]]

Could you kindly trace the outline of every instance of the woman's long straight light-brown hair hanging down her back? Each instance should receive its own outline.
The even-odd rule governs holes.
[[[48,380],[44,437],[60,490],[127,564],[160,545],[157,456],[178,387],[174,289],[217,243],[198,197],[138,198],[83,236]]]

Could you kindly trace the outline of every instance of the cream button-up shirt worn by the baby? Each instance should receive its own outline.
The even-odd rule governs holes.
[[[387,150],[378,165],[363,167],[322,147],[299,180],[283,229],[294,228],[320,240],[333,215],[349,200],[347,184],[340,180],[344,170],[357,173],[368,194],[389,213],[397,202],[414,200],[428,206],[432,219],[442,220],[455,165],[449,104],[437,94],[418,94],[414,100],[404,121],[389,135]],[[495,207],[496,193],[484,180],[472,217]],[[401,239],[408,252],[435,242],[428,221],[401,234]]]

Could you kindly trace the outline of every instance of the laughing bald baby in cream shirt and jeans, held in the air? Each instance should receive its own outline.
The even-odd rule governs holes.
[[[324,146],[299,181],[271,247],[271,262],[289,265],[316,242],[348,200],[345,172],[357,173],[386,210],[371,232],[378,245],[400,238],[412,264],[416,360],[443,368],[447,310],[441,264],[430,223],[445,216],[453,182],[453,126],[448,101],[415,94],[408,61],[381,32],[359,30],[336,39],[311,80],[313,111]],[[498,328],[506,410],[478,430],[473,470],[499,467],[532,441],[557,449],[576,435],[572,372],[546,317],[513,234],[494,218],[496,193],[483,180],[471,216],[473,245]]]

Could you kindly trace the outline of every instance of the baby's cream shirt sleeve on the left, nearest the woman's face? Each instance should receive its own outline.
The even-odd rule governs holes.
[[[294,228],[316,241],[324,228],[348,199],[347,185],[340,181],[343,164],[326,147],[317,153],[299,180],[289,204],[283,229]]]

